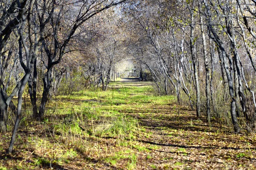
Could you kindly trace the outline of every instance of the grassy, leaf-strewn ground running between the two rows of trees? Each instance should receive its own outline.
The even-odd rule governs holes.
[[[155,96],[150,82],[122,79],[108,91],[57,96],[43,122],[25,107],[12,155],[5,149],[14,116],[0,134],[0,170],[256,169],[255,135],[196,119],[174,97]]]

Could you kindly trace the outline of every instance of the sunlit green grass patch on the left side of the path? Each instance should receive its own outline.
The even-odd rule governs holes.
[[[72,95],[57,96],[56,104],[53,100],[47,105],[43,122],[33,123],[31,111],[26,110],[20,122],[20,129],[32,133],[27,136],[22,133],[18,134],[16,151],[20,148],[20,144],[24,144],[21,146],[23,150],[28,147],[34,150],[37,156],[34,155],[35,152],[30,156],[31,165],[38,168],[54,166],[54,164],[63,166],[72,162],[79,153],[81,155],[81,153],[89,152],[91,155],[99,157],[98,161],[102,160],[110,165],[115,165],[116,161],[124,159],[125,167],[134,169],[136,155],[129,150],[133,148],[131,147],[132,142],[140,137],[140,127],[136,118],[123,111],[132,110],[134,105],[148,102],[154,97],[145,97],[145,94],[151,91],[150,85],[137,88],[123,87],[119,84],[118,82],[112,83],[109,91],[87,90],[74,92]],[[119,88],[116,89],[117,86]],[[131,93],[138,93],[138,95],[131,95]],[[53,113],[53,111],[55,112]],[[10,117],[9,120],[11,119],[14,122],[14,118]],[[10,131],[12,123],[9,123],[8,126]],[[35,130],[39,130],[39,133],[33,133]],[[142,131],[145,132],[145,129]],[[3,136],[6,139],[6,147],[9,136],[10,133]],[[100,139],[104,138],[119,139],[120,145],[124,143],[126,150],[119,150],[114,152],[115,156],[108,157],[111,152],[108,144],[102,148],[98,143]],[[92,143],[90,140],[95,140],[95,142]],[[126,140],[130,142],[127,143]],[[138,148],[141,150],[140,146]],[[141,148],[143,150],[144,147]],[[100,156],[102,153],[106,153],[106,159]],[[87,160],[90,161],[91,158],[87,158]],[[24,163],[26,161],[22,162],[22,164]],[[22,164],[19,165],[19,168],[22,168]],[[12,163],[9,165],[9,168],[17,167]]]

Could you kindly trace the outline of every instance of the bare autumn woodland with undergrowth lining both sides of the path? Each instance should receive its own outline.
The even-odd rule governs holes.
[[[57,96],[107,91],[134,70],[208,126],[255,133],[255,0],[1,0],[0,8],[7,153],[25,112],[43,123]]]

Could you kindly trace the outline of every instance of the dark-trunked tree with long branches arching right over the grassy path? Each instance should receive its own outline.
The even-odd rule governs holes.
[[[37,115],[39,119],[42,119],[42,117],[44,116],[45,106],[49,98],[49,91],[52,85],[52,68],[54,65],[57,65],[61,62],[61,59],[64,56],[64,54],[72,51],[68,49],[68,45],[74,37],[79,36],[79,33],[81,33],[81,31],[78,31],[76,33],[76,30],[79,30],[79,28],[82,26],[84,22],[86,22],[99,12],[124,2],[125,0],[108,3],[108,1],[102,0],[100,2],[86,1],[76,3],[75,8],[71,10],[71,12],[75,12],[76,15],[70,18],[72,22],[68,23],[67,25],[70,28],[70,30],[66,31],[64,34],[60,31],[60,23],[63,22],[62,15],[66,13],[66,11],[64,11],[65,4],[59,5],[57,17],[55,15],[52,15],[50,17],[52,29],[50,32],[52,32],[52,38],[45,39],[42,42],[44,51],[47,54],[47,62],[44,62],[47,71],[44,74],[43,78],[44,90],[41,99],[41,105],[39,107]],[[52,51],[50,50],[51,45],[53,45]]]

